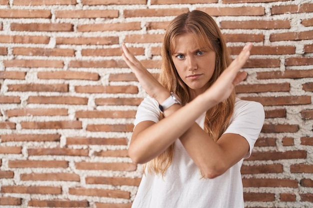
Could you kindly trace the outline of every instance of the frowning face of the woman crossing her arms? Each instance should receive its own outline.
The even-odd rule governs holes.
[[[199,47],[191,33],[177,36],[173,46],[171,58],[177,73],[194,98],[209,87],[208,81],[215,68],[215,52],[209,47]]]

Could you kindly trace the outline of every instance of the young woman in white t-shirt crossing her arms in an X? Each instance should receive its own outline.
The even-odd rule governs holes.
[[[133,208],[244,207],[240,167],[264,122],[263,106],[234,92],[251,47],[231,62],[208,14],[181,14],[165,32],[158,82],[122,45],[149,95],[138,107],[128,151],[144,164]]]

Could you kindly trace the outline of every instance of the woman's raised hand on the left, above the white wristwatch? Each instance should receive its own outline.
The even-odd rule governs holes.
[[[169,91],[165,89],[153,76],[142,66],[142,64],[129,52],[126,45],[122,46],[122,58],[135,74],[140,85],[148,95],[161,103],[169,96]]]

